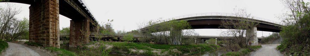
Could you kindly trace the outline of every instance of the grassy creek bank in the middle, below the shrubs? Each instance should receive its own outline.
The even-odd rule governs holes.
[[[210,44],[166,45],[126,42],[101,43],[113,45],[111,53],[146,56],[193,55],[219,48],[218,45]]]

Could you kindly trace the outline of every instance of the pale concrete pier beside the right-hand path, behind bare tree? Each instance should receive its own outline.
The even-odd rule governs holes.
[[[253,38],[250,40],[252,44],[249,45],[258,45],[258,39],[257,39],[257,28],[251,28],[250,30],[246,30],[246,38]]]

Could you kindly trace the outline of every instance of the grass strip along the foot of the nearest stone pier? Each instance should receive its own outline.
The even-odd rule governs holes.
[[[32,43],[29,41],[26,41],[24,44],[27,44],[29,46],[36,46],[36,47],[43,47],[43,45],[39,43]],[[55,47],[44,47],[44,49],[49,50],[51,52],[56,52],[57,56],[77,56],[74,52],[65,50],[65,49],[60,49],[60,48],[55,48]]]

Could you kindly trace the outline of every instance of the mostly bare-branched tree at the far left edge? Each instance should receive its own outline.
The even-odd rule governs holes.
[[[21,35],[23,29],[21,27],[14,27],[14,26],[22,26],[19,25],[19,22],[15,15],[20,13],[20,9],[17,7],[13,7],[12,4],[8,4],[5,8],[0,9],[0,37],[4,39],[7,37],[6,40],[15,40],[18,36]],[[14,37],[14,38],[12,38]]]

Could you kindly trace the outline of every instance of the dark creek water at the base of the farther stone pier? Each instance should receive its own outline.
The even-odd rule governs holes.
[[[61,49],[69,50],[74,53],[78,53],[80,49],[75,48],[75,47],[68,47],[68,46],[60,46]],[[108,56],[125,56],[125,55],[119,55],[119,54],[108,54]]]

